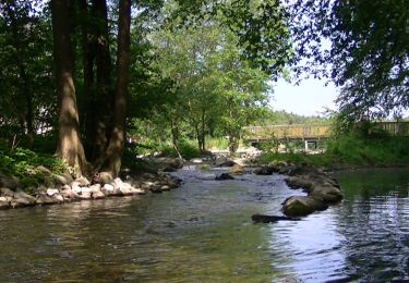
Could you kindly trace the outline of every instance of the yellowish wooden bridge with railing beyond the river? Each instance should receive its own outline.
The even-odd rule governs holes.
[[[393,136],[409,136],[409,122],[376,122],[373,131],[384,131]],[[316,148],[318,140],[327,139],[332,134],[330,124],[248,126],[245,132],[244,140],[251,144],[302,140],[305,150],[311,146]]]

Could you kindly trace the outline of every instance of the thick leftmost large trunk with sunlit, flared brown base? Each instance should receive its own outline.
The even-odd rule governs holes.
[[[76,107],[73,81],[73,51],[70,30],[69,2],[51,0],[53,58],[58,95],[58,147],[57,153],[62,161],[74,169],[75,175],[82,175],[85,153],[80,138],[79,111]]]

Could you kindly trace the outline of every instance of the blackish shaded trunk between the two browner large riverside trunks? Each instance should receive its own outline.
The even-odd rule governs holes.
[[[79,0],[83,21],[82,45],[84,93],[86,94],[85,128],[88,160],[99,160],[108,146],[112,114],[111,58],[109,53],[108,12],[106,0],[93,0],[91,14],[86,0]],[[92,27],[88,26],[92,22]]]

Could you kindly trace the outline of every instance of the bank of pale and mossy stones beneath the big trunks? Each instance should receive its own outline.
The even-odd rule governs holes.
[[[180,168],[180,162],[168,162],[164,168]],[[164,173],[121,172],[121,177],[112,177],[108,172],[100,172],[93,177],[73,179],[71,174],[56,174],[38,167],[44,184],[26,190],[15,176],[0,172],[0,209],[45,206],[80,200],[101,199],[163,193],[179,187],[181,180]]]

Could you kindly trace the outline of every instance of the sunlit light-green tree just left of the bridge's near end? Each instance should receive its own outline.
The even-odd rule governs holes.
[[[268,75],[241,60],[237,38],[227,33],[225,47],[214,57],[217,81],[216,93],[220,97],[222,128],[229,136],[229,150],[236,152],[243,127],[260,119],[266,110],[269,88]]]

